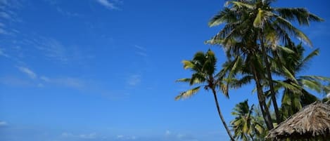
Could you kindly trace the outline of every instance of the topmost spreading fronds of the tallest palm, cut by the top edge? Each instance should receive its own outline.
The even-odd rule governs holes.
[[[241,39],[240,36],[253,32],[251,30],[263,29],[267,41],[273,47],[278,41],[291,43],[290,36],[295,36],[312,46],[310,39],[291,22],[298,21],[300,25],[310,25],[312,21],[324,20],[305,8],[272,8],[271,2],[271,0],[227,1],[226,7],[213,16],[208,24],[210,27],[220,24],[227,25],[208,43],[219,43],[219,40],[227,39],[230,36],[231,39]]]

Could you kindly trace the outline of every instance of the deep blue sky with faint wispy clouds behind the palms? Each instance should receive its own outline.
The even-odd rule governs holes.
[[[208,20],[224,1],[0,0],[0,140],[227,140],[212,95],[189,86],[181,61],[217,46]],[[302,74],[330,76],[328,1],[277,1],[325,19],[300,27],[320,55]],[[307,52],[313,48],[307,47]],[[225,119],[253,86],[220,97]],[[322,97],[322,95],[319,95]]]

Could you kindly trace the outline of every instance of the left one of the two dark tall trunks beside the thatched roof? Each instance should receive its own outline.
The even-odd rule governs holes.
[[[251,65],[251,67],[253,70],[253,77],[255,79],[255,85],[257,87],[258,101],[259,101],[259,106],[260,106],[260,110],[262,113],[262,117],[265,120],[268,130],[271,130],[272,128],[274,128],[273,123],[272,123],[272,117],[270,116],[269,109],[265,102],[265,95],[263,95],[263,92],[262,92],[262,86],[260,84],[258,72],[256,71],[254,65]]]

